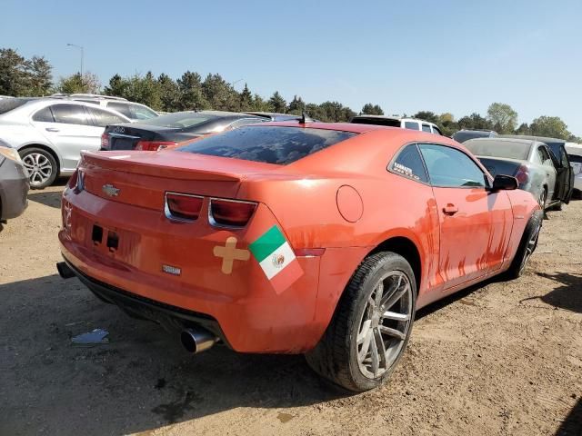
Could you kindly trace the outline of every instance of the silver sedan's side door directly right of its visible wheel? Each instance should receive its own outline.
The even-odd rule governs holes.
[[[95,131],[82,104],[51,104],[33,114],[32,124],[58,150],[62,172],[75,171],[81,150],[96,151],[101,144],[103,128]]]

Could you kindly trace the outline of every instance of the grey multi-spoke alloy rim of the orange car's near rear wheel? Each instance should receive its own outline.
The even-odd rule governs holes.
[[[412,326],[413,293],[404,272],[386,273],[367,299],[356,338],[360,372],[376,379],[388,371]]]

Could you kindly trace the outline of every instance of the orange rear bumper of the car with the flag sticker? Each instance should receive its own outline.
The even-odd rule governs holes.
[[[230,274],[221,272],[212,247],[224,244],[229,232],[204,223],[169,223],[161,211],[86,192],[65,190],[63,205],[65,228],[59,241],[66,262],[91,291],[126,312],[157,322],[197,323],[236,352],[306,352],[326,329],[328,319],[316,316],[325,255],[297,257],[303,274],[276,292],[253,258],[236,263]],[[257,210],[256,218],[267,212]],[[93,223],[120,235],[117,252],[91,243]],[[243,247],[245,236],[237,235]],[[180,266],[182,274],[163,272],[162,264]]]

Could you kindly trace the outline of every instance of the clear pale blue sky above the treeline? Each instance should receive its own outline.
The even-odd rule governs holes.
[[[219,73],[359,111],[458,118],[510,104],[519,122],[560,116],[582,135],[582,1],[0,0],[0,46],[45,55],[55,77]]]

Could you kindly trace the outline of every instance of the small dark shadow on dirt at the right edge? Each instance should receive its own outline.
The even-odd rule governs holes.
[[[582,313],[582,275],[568,272],[556,272],[553,274],[536,272],[536,274],[539,277],[559,283],[559,286],[546,295],[530,297],[522,300],[522,302],[539,299],[559,309]]]

